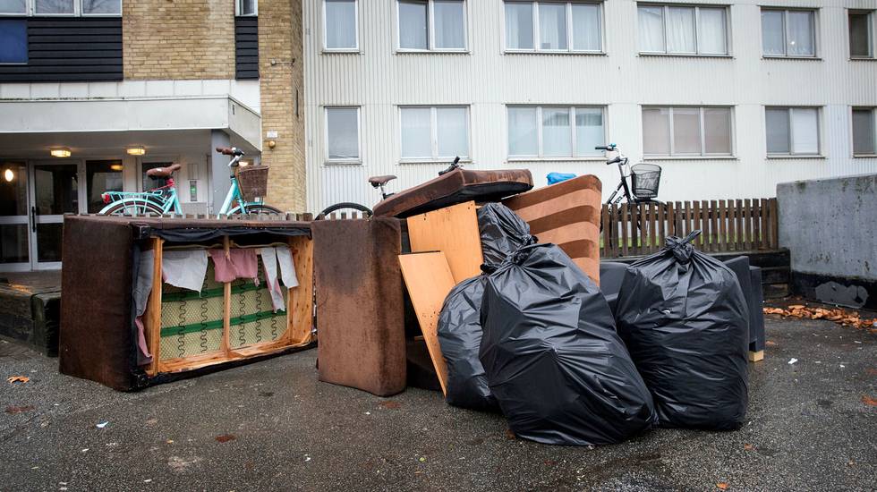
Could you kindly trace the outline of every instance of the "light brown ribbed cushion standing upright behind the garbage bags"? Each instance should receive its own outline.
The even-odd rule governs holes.
[[[503,200],[527,221],[540,242],[560,246],[600,284],[600,193],[597,176],[585,174]]]

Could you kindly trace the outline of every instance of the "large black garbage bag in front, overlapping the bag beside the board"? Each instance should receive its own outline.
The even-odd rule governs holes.
[[[655,423],[609,304],[558,246],[525,246],[488,276],[481,326],[490,391],[518,437],[606,445]]]

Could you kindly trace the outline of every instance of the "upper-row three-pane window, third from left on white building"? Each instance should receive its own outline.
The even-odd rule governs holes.
[[[506,2],[506,49],[602,51],[600,4]]]

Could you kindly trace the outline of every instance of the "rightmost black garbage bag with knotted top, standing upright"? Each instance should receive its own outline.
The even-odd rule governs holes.
[[[670,236],[627,267],[618,333],[654,397],[661,426],[733,429],[749,400],[749,310],[737,276]]]

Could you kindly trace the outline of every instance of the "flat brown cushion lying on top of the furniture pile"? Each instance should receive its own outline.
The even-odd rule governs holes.
[[[470,200],[497,201],[530,189],[532,174],[526,169],[458,168],[381,200],[374,215],[404,218]]]

